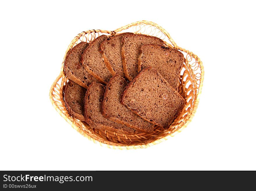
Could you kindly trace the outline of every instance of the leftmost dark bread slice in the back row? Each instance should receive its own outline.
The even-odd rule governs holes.
[[[88,45],[89,43],[87,42],[80,42],[67,53],[64,61],[64,70],[67,78],[86,89],[90,83],[97,82],[93,76],[86,72],[83,65],[80,63],[83,51]]]

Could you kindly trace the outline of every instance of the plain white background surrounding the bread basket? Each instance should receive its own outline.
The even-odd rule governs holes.
[[[256,170],[255,6],[250,1],[1,1],[0,170]],[[114,150],[53,108],[70,41],[148,20],[205,67],[192,122],[147,149]]]

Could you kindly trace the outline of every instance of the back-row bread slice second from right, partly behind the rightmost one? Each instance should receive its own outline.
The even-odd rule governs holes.
[[[122,39],[122,63],[125,78],[131,81],[138,74],[138,57],[143,44],[161,44],[164,42],[160,38],[147,35],[126,35]]]

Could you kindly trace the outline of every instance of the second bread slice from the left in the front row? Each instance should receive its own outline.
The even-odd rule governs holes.
[[[86,122],[97,129],[115,131],[117,133],[134,134],[135,129],[115,123],[103,117],[100,111],[104,95],[104,86],[99,83],[91,83],[84,98],[84,117]]]

